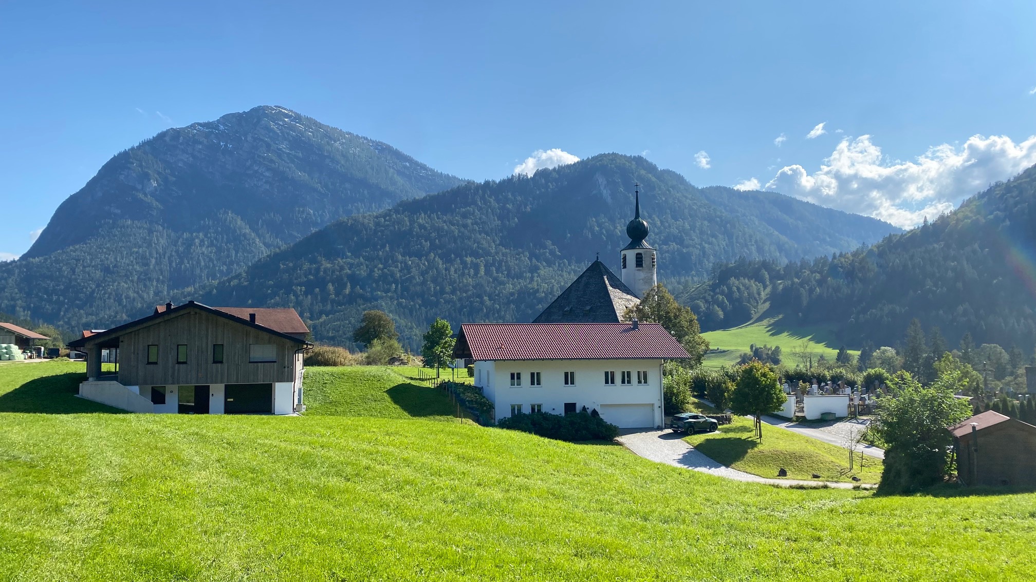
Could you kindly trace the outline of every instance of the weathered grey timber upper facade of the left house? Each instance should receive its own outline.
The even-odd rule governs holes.
[[[202,309],[175,310],[145,318],[118,333],[83,342],[87,376],[102,375],[102,349],[118,348],[118,382],[123,385],[251,384],[295,382],[304,342],[289,340]],[[250,362],[252,344],[275,346],[277,361]],[[178,346],[186,361],[177,362]],[[223,346],[223,362],[213,362],[213,345]],[[148,346],[157,346],[157,362],[148,363]]]

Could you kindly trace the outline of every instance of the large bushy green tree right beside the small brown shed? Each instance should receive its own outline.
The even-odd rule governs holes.
[[[946,478],[953,444],[946,429],[971,415],[968,402],[953,398],[959,376],[960,371],[949,372],[929,387],[908,372],[889,380],[895,397],[881,400],[876,425],[887,445],[880,491],[902,493]]]

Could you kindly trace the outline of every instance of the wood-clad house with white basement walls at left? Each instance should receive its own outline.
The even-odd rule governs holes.
[[[88,400],[133,412],[289,414],[304,408],[307,333],[291,309],[188,301],[68,346],[87,354]]]

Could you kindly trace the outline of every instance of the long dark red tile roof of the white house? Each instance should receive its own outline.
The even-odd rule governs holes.
[[[464,323],[454,357],[495,359],[679,359],[690,357],[657,323]]]

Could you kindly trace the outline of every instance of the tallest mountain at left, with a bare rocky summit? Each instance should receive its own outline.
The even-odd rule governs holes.
[[[342,216],[461,182],[281,107],[167,129],[112,157],[0,263],[0,310],[104,327]]]

